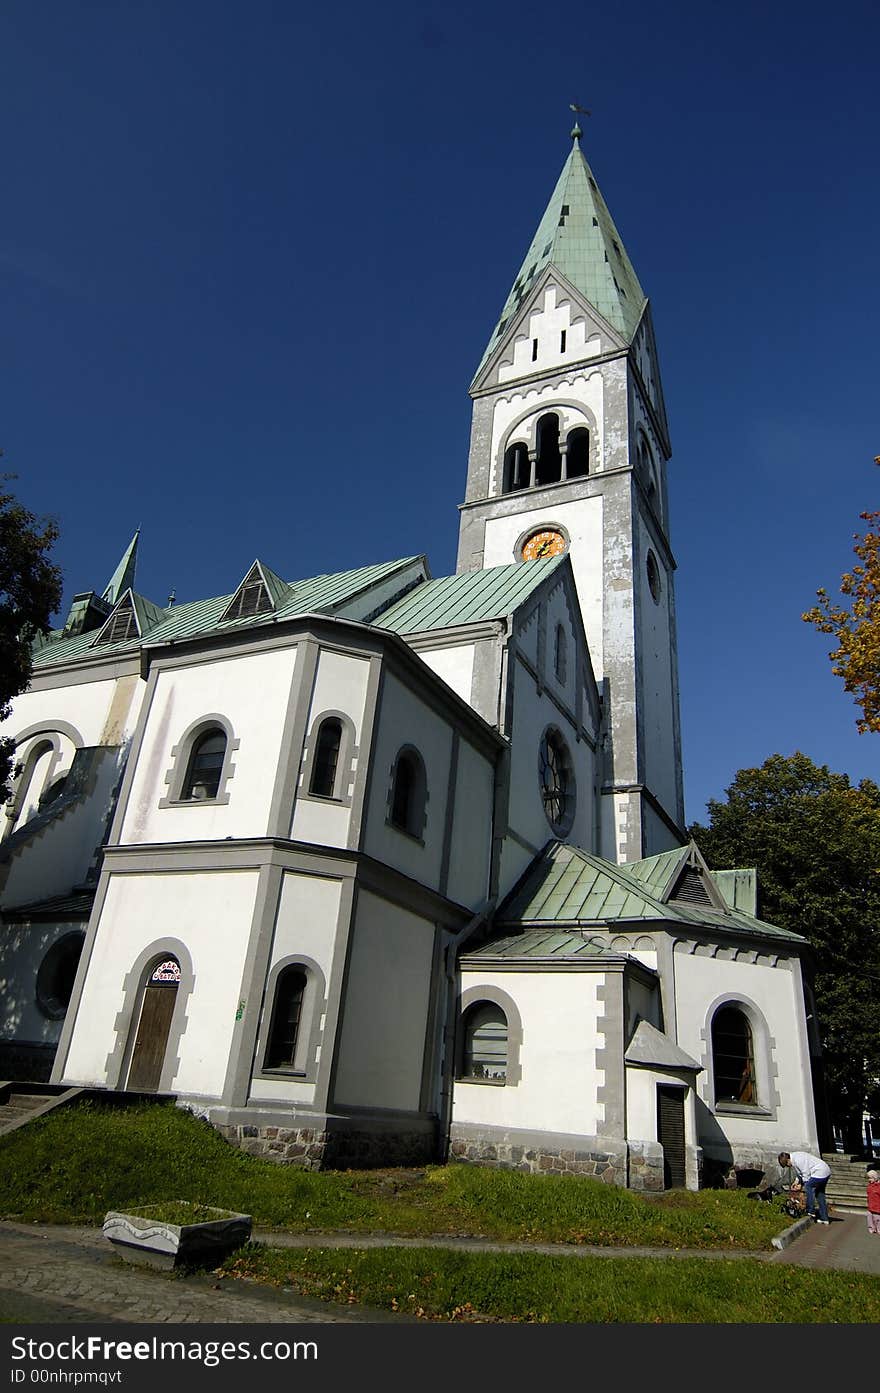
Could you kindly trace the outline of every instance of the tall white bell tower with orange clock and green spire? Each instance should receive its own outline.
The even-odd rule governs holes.
[[[581,130],[471,384],[458,571],[567,550],[603,694],[603,855],[682,841],[670,439],[650,306]]]

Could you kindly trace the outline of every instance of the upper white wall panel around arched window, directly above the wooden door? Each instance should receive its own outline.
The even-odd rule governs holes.
[[[295,659],[295,648],[283,648],[157,671],[120,841],[266,836]],[[173,747],[212,713],[224,716],[238,740],[228,802],[160,808]]]

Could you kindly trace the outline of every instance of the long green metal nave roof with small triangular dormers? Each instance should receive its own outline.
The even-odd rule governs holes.
[[[102,644],[99,648],[95,648],[95,630],[65,639],[50,635],[49,639],[33,649],[33,671],[39,673],[58,663],[77,662],[77,659],[97,655],[102,657],[116,656],[156,644],[180,642],[187,638],[199,638],[213,632],[226,634],[239,628],[273,624],[283,618],[295,618],[297,614],[322,613],[344,618],[345,607],[363,595],[365,591],[386,581],[395,571],[405,571],[421,560],[418,556],[408,556],[395,561],[383,561],[377,566],[361,566],[352,571],[334,571],[327,575],[313,575],[302,581],[290,582],[281,581],[260,563],[260,570],[272,588],[277,609],[230,620],[226,624],[221,624],[220,620],[235,591],[206,600],[175,605],[170,609],[160,609],[152,605],[150,600],[145,600],[143,596],[134,595],[138,621],[141,623],[141,639],[129,638],[118,644]]]

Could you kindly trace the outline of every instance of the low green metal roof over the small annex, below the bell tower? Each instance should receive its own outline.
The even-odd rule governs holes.
[[[717,908],[709,904],[686,904],[681,900],[661,898],[654,889],[659,876],[659,862],[667,861],[667,885],[671,879],[668,858],[684,862],[689,847],[663,853],[618,866],[602,857],[592,855],[581,847],[551,841],[535,858],[525,876],[500,905],[496,924],[500,931],[511,924],[525,925],[579,925],[579,926],[624,926],[625,924],[684,924],[689,929],[709,926],[728,933],[762,939],[785,939],[791,943],[805,943],[799,933],[767,924],[755,915],[744,914],[730,907]]]

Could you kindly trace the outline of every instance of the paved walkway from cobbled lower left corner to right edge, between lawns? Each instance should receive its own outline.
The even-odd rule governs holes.
[[[838,1268],[880,1276],[880,1243],[865,1215],[838,1215],[813,1226],[781,1252],[685,1248],[600,1248],[575,1244],[490,1243],[480,1238],[395,1238],[386,1234],[258,1233],[273,1247],[412,1247],[487,1252],[544,1252],[568,1258],[756,1258],[806,1268]],[[879,1236],[880,1237],[880,1236]],[[173,1322],[272,1323],[400,1322],[412,1318],[363,1307],[334,1307],[298,1293],[224,1280],[181,1277],[123,1265],[100,1229],[0,1223],[0,1319],[45,1323]]]

